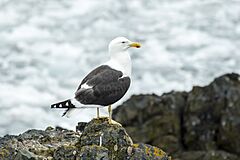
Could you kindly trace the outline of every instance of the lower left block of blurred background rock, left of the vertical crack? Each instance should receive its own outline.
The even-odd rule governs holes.
[[[134,142],[148,143],[174,153],[182,148],[181,112],[185,92],[132,96],[113,111]]]

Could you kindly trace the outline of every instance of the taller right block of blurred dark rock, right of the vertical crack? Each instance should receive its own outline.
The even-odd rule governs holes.
[[[194,87],[184,109],[184,128],[188,148],[240,154],[240,77],[227,74]]]

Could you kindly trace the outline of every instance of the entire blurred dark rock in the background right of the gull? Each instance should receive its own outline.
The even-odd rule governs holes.
[[[240,76],[226,74],[192,91],[132,96],[113,112],[133,141],[173,159],[240,159]]]

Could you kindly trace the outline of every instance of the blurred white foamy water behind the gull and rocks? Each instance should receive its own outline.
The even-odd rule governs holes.
[[[62,118],[49,106],[73,97],[84,75],[108,59],[116,36],[143,45],[131,50],[123,100],[240,73],[239,0],[0,0],[0,135],[74,129],[95,117],[87,109]]]

